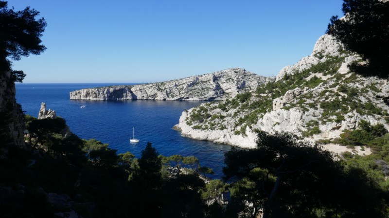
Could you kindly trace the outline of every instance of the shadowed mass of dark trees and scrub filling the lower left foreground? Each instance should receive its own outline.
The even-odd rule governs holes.
[[[194,156],[160,156],[151,143],[140,158],[117,154],[98,140],[64,138],[62,118],[26,116],[26,126],[27,149],[9,146],[1,154],[1,217],[70,211],[84,218],[211,217],[215,208],[222,213],[227,185],[206,185],[213,171]]]

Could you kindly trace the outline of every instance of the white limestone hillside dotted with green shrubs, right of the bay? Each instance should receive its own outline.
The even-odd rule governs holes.
[[[276,81],[223,102],[184,111],[175,126],[199,140],[252,148],[256,130],[284,131],[305,140],[332,140],[361,120],[388,129],[388,80],[360,77],[347,65],[360,61],[323,35],[312,54],[284,67]]]

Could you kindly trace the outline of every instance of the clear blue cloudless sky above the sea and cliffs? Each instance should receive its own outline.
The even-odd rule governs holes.
[[[275,76],[311,54],[342,0],[9,0],[47,21],[25,83],[157,82],[242,67]]]

